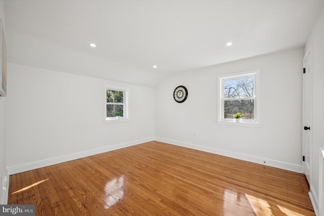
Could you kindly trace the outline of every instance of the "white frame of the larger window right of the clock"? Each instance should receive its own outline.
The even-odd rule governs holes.
[[[242,98],[253,99],[254,102],[254,120],[241,119],[240,123],[236,123],[235,119],[224,119],[224,81],[234,80],[240,78],[254,77],[255,97]],[[235,74],[226,74],[217,76],[217,124],[238,125],[238,126],[252,126],[260,127],[260,69],[244,71]],[[237,100],[237,99],[226,99]]]

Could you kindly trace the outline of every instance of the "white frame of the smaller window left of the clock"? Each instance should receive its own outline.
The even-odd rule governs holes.
[[[107,90],[115,90],[115,91],[123,91],[124,92],[124,102],[123,103],[115,103],[115,104],[123,104],[123,117],[107,117]],[[104,122],[105,123],[111,123],[111,122],[123,122],[123,121],[129,121],[130,119],[130,110],[129,110],[129,97],[130,97],[130,89],[127,87],[121,87],[121,86],[114,86],[114,85],[105,85],[105,91],[104,91]],[[109,103],[112,104],[112,103]]]

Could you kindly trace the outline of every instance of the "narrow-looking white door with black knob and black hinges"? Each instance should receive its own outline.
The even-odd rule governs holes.
[[[306,175],[308,183],[310,183],[311,172],[311,112],[312,112],[312,91],[311,91],[311,67],[310,67],[310,52],[305,56],[303,73],[303,132],[302,132],[302,153],[303,153],[303,171]]]

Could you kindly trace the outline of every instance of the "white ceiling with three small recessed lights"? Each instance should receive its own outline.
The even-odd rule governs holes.
[[[304,46],[323,1],[4,5],[8,62],[154,87],[173,73]]]

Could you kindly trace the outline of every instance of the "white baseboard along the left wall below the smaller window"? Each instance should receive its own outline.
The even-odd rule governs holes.
[[[75,159],[79,159],[79,158],[89,157],[92,155],[110,152],[113,150],[122,149],[122,148],[130,147],[130,146],[135,146],[140,143],[149,142],[149,141],[153,141],[153,140],[154,140],[154,137],[149,137],[149,138],[134,140],[134,141],[130,141],[130,142],[119,143],[119,144],[116,144],[113,146],[107,146],[107,147],[93,149],[93,150],[89,150],[89,151],[77,152],[77,153],[73,153],[73,154],[69,154],[69,155],[63,155],[63,156],[59,156],[59,157],[55,157],[55,158],[49,158],[46,160],[39,160],[39,161],[34,161],[34,162],[25,163],[25,164],[21,164],[21,165],[11,166],[11,167],[8,167],[8,174],[12,175],[12,174],[25,172],[25,171],[29,171],[29,170],[33,170],[33,169],[37,169],[37,168],[51,166],[51,165],[58,164],[58,163],[63,163],[63,162],[67,162],[67,161],[71,161],[71,160],[75,160]]]

